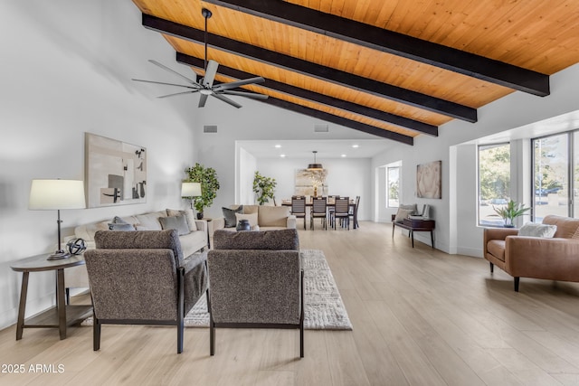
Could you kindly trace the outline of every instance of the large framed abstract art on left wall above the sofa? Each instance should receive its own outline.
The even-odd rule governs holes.
[[[147,149],[85,133],[89,208],[147,202]]]

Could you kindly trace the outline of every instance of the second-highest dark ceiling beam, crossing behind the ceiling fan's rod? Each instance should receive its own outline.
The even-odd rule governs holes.
[[[143,14],[143,26],[158,33],[166,33],[180,39],[199,43],[204,42],[204,31],[184,24],[171,22],[157,16]],[[318,80],[329,81],[380,98],[391,99],[416,108],[423,108],[447,117],[458,118],[468,122],[477,121],[476,108],[470,108],[409,89],[402,89],[376,80],[370,80],[346,71],[338,71],[310,61],[303,61],[298,58],[283,55],[279,52],[272,52],[251,44],[237,42],[213,33],[208,34],[208,45],[224,52],[231,52],[254,61],[261,61],[289,71],[296,71],[317,78]]]

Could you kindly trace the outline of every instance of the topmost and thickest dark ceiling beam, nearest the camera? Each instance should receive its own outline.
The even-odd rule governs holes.
[[[459,72],[480,80],[545,97],[549,95],[549,77],[503,61],[464,52],[438,43],[424,41],[403,33],[394,33],[369,24],[325,14],[311,8],[273,0],[204,0],[252,14],[281,24],[288,24],[353,42],[381,52]]]

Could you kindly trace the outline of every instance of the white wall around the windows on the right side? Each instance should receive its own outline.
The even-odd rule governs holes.
[[[419,136],[414,146],[394,145],[376,155],[373,169],[391,162],[403,161],[402,202],[417,202],[432,205],[432,218],[436,220],[436,248],[449,253],[482,256],[482,228],[476,221],[476,147],[460,144],[475,141],[506,130],[523,127],[547,118],[574,112],[578,105],[579,65],[551,76],[551,95],[539,98],[523,92],[514,92],[503,99],[479,108],[479,121],[475,124],[458,119],[440,127],[439,137]],[[562,130],[573,128],[574,122],[562,125]],[[518,149],[518,147],[516,148]],[[525,155],[524,146],[517,151],[518,162]],[[416,165],[431,161],[442,161],[442,199],[424,200],[415,196]],[[524,165],[518,164],[518,170]],[[521,173],[527,173],[524,169]],[[514,178],[516,196],[525,194],[525,183]],[[530,184],[528,185],[530,186]],[[380,188],[380,187],[378,187]],[[383,192],[377,189],[378,194]],[[460,231],[459,231],[460,230]],[[428,234],[416,237],[430,244]]]

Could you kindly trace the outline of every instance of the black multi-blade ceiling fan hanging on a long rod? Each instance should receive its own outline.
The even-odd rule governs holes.
[[[225,95],[236,95],[239,97],[252,98],[252,99],[268,99],[267,95],[257,94],[257,93],[253,93],[253,92],[234,90],[235,88],[238,88],[240,86],[244,86],[244,85],[248,85],[248,84],[254,84],[254,83],[262,83],[265,81],[262,77],[255,77],[255,78],[250,78],[250,79],[246,79],[246,80],[237,80],[237,81],[232,81],[229,83],[220,83],[220,84],[214,85],[215,75],[217,74],[217,68],[219,67],[219,63],[217,61],[213,61],[213,60],[207,61],[207,19],[209,19],[211,17],[212,13],[208,9],[203,8],[203,10],[201,11],[201,14],[203,14],[203,16],[205,18],[205,36],[204,36],[205,74],[204,74],[204,77],[201,78],[201,80],[196,81],[196,80],[189,79],[189,78],[185,77],[185,75],[182,75],[179,72],[174,71],[174,70],[166,67],[165,65],[159,63],[158,61],[153,61],[153,60],[149,60],[149,61],[151,63],[157,65],[158,67],[162,68],[163,70],[169,71],[169,72],[175,74],[176,76],[186,80],[189,83],[189,85],[182,85],[182,84],[176,84],[176,83],[166,83],[166,82],[155,81],[155,80],[139,80],[139,79],[133,79],[133,80],[143,81],[146,83],[165,84],[168,86],[183,87],[185,89],[188,89],[186,91],[162,95],[162,96],[157,97],[157,98],[174,97],[176,95],[193,94],[195,92],[198,92],[200,94],[198,107],[200,107],[200,108],[203,108],[205,106],[205,102],[207,101],[207,98],[209,98],[209,96],[212,96],[216,99],[223,100],[223,102],[228,103],[235,108],[241,108],[242,105],[240,105],[239,103],[237,103],[233,99],[227,98]]]

